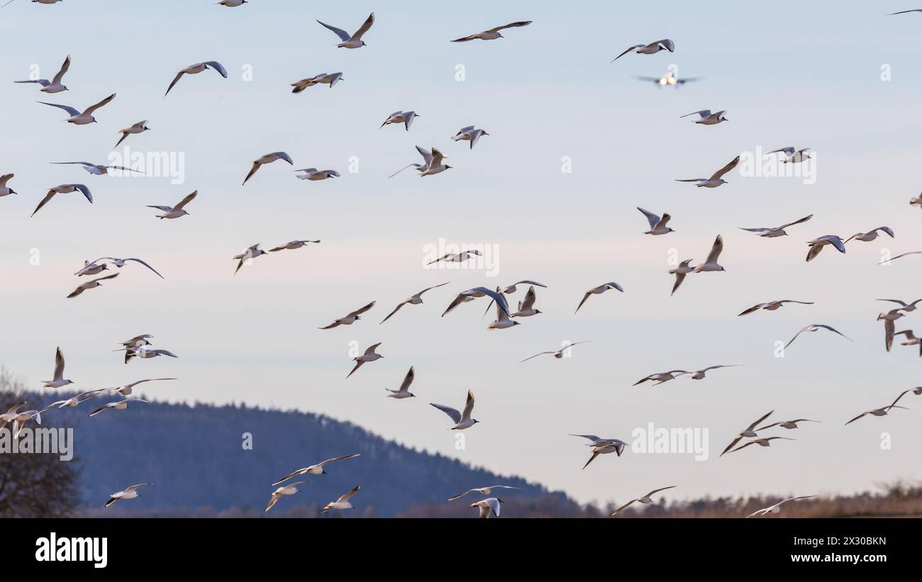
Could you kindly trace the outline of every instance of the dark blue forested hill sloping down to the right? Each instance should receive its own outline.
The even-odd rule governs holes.
[[[27,393],[22,400],[37,408],[52,399]],[[115,400],[94,399],[45,414],[43,425],[74,427],[72,462],[80,470],[83,515],[261,515],[275,489],[269,483],[351,453],[361,457],[328,465],[326,475],[298,478],[313,483],[281,499],[268,515],[315,516],[316,506],[357,484],[361,494],[352,500],[357,510],[351,517],[387,517],[410,507],[445,505],[449,495],[497,483],[522,487],[510,493],[516,497],[544,497],[542,504],[576,509],[562,493],[549,494],[538,484],[407,448],[320,414],[152,402],[88,418],[94,408]],[[253,435],[252,450],[242,447],[244,433]],[[137,499],[100,510],[113,492],[146,482],[153,485]]]

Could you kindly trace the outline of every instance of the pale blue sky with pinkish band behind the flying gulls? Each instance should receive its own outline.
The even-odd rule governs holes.
[[[19,192],[0,198],[0,364],[37,388],[51,377],[60,345],[78,389],[176,376],[181,381],[144,393],[326,413],[582,502],[671,484],[680,487],[670,496],[691,498],[850,493],[917,480],[922,398],[905,397],[912,410],[843,426],[922,384],[917,347],[895,345],[887,354],[875,320],[889,308],[878,297],[922,297],[915,257],[876,264],[881,250],[922,250],[922,212],[908,204],[920,190],[922,50],[913,41],[922,14],[886,16],[910,7],[17,0],[0,10],[0,173],[15,172],[9,185]],[[372,10],[376,22],[361,50],[338,49],[337,37],[314,22],[351,31]],[[448,42],[521,19],[534,22],[498,41]],[[609,64],[627,46],[662,38],[674,40],[676,52]],[[28,78],[33,64],[50,78],[67,54],[71,90],[45,95],[11,82]],[[163,99],[176,71],[207,60],[224,64],[229,78],[185,76]],[[464,81],[455,80],[458,64]],[[659,76],[670,64],[702,79],[676,89],[633,78]],[[891,80],[881,80],[882,65]],[[253,79],[243,80],[251,68]],[[293,81],[337,71],[344,73],[337,87],[290,93]],[[35,103],[82,110],[113,92],[89,126],[66,124],[64,111]],[[679,119],[700,109],[726,109],[730,121],[703,127]],[[379,130],[396,110],[420,118],[409,132]],[[106,163],[118,130],[142,119],[151,131],[123,145],[182,154],[182,184],[48,164]],[[450,139],[469,124],[490,133],[473,150]],[[388,180],[420,161],[414,145],[439,147],[454,168]],[[815,184],[738,171],[715,190],[674,181],[710,175],[739,153],[787,145],[816,152]],[[279,161],[241,186],[256,157],[278,150],[295,168],[337,169],[342,177],[295,180]],[[349,173],[353,157],[357,173]],[[561,172],[563,157],[572,159],[572,173]],[[29,217],[48,187],[66,182],[86,183],[95,204],[59,194]],[[182,219],[158,220],[145,208],[194,190],[191,215]],[[638,205],[671,214],[676,232],[644,236]],[[810,214],[782,239],[738,228]],[[845,255],[827,248],[804,262],[807,240],[883,225],[896,239],[853,241]],[[670,250],[702,261],[717,234],[727,272],[693,274],[669,297]],[[233,275],[231,256],[242,249],[291,239],[323,242],[259,257]],[[440,239],[486,246],[497,276],[422,268],[424,249]],[[30,263],[33,250],[38,265]],[[82,262],[103,255],[141,257],[166,278],[128,265],[103,287],[65,299]],[[520,326],[488,332],[492,312],[480,317],[486,299],[439,317],[458,291],[521,279],[549,288],[538,289],[545,313]],[[422,306],[379,325],[399,301],[445,281]],[[586,289],[608,281],[625,293],[590,297],[573,315]],[[781,298],[816,303],[737,317]],[[372,300],[377,305],[356,324],[317,330]],[[897,329],[916,326],[918,313]],[[807,333],[774,357],[775,341],[810,323],[855,341]],[[125,366],[111,350],[138,333],[154,334],[156,347],[180,359]],[[564,340],[594,343],[568,359],[518,363]],[[345,380],[350,342],[362,350],[382,342],[385,358]],[[653,372],[715,364],[744,366],[632,388]],[[396,388],[409,366],[419,398],[386,399],[383,389]],[[461,408],[468,389],[481,422],[464,431],[467,448],[458,451],[448,417],[428,402]],[[773,409],[774,421],[822,424],[766,431],[797,441],[717,459],[740,429]],[[651,422],[708,429],[710,459],[629,451],[580,471],[587,448],[568,433],[630,440]],[[881,450],[884,431],[889,450]],[[258,435],[254,442],[272,446]]]

